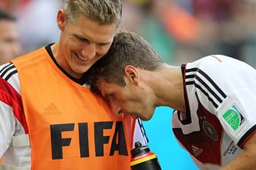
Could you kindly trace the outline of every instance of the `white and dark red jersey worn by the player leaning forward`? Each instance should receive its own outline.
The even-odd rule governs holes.
[[[240,153],[256,131],[256,70],[224,55],[181,67],[186,119],[174,111],[175,137],[200,169],[219,169]]]

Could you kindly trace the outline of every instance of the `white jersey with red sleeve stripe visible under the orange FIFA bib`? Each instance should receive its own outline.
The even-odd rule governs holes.
[[[50,50],[50,46],[46,48]],[[53,56],[51,57],[53,58]],[[88,88],[86,84],[83,86]],[[0,165],[0,169],[16,169],[11,167],[22,167],[18,169],[26,170],[30,169],[31,150],[27,134],[27,123],[24,119],[18,71],[11,63],[1,65],[0,157],[3,158],[4,164],[8,166],[4,166],[3,168]],[[136,121],[134,127],[133,144],[136,141],[140,141],[143,145],[146,145],[148,142],[146,133],[139,119]]]

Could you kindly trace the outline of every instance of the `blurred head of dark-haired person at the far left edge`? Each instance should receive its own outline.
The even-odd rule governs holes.
[[[17,18],[0,9],[0,65],[21,55]]]

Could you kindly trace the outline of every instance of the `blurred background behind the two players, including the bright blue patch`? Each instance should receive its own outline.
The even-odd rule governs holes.
[[[56,42],[62,0],[0,0],[18,17],[22,53]],[[171,65],[221,54],[256,68],[256,0],[123,0],[120,27],[139,33]],[[197,169],[171,131],[172,109],[143,122],[163,170]]]

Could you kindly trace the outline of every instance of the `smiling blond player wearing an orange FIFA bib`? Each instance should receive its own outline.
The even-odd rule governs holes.
[[[0,169],[130,170],[142,124],[114,115],[84,77],[110,48],[121,1],[63,3],[56,42],[0,65]]]

